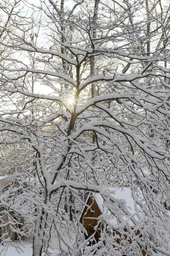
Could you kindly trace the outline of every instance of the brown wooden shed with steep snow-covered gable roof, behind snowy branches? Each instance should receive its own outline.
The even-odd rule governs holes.
[[[115,189],[117,196],[115,196],[116,198],[120,199],[120,200],[125,200],[127,203],[127,206],[131,208],[131,210],[135,211],[134,208],[134,200],[131,197],[131,190],[129,188],[124,188],[124,190],[118,188]],[[92,235],[95,230],[94,227],[97,226],[97,222],[99,220],[99,216],[101,214],[103,214],[103,212],[105,211],[103,207],[103,203],[104,200],[102,198],[102,196],[99,193],[90,193],[87,197],[86,200],[86,205],[84,209],[82,210],[81,216],[80,216],[80,222],[83,224],[84,228],[86,229],[88,236],[85,235],[85,238],[87,239],[88,237],[90,237],[90,235]],[[116,222],[116,218],[112,219],[112,222],[117,223]],[[129,220],[129,226],[131,227],[131,229],[133,229],[133,222],[131,220]],[[97,226],[97,232],[94,235],[94,238],[96,240],[96,242],[99,241],[100,238],[100,230],[101,230],[102,226]],[[124,229],[125,232],[127,232],[127,230]],[[121,241],[121,234],[116,231],[113,230],[113,232],[115,232],[119,237],[119,243]],[[135,232],[136,235],[140,234],[140,231],[137,230],[137,232]],[[141,235],[139,235],[139,237],[141,237]],[[93,240],[92,244],[94,244],[95,240]],[[118,240],[116,239],[116,242],[118,242]],[[132,241],[128,240],[128,243],[131,243]],[[140,247],[140,246],[139,246]],[[145,248],[146,249],[146,248]],[[145,256],[146,250],[142,250],[141,251],[142,255]]]

